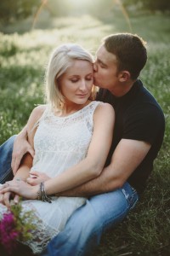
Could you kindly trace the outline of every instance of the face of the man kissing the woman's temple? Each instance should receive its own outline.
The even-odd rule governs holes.
[[[114,90],[119,85],[116,55],[111,54],[101,45],[94,62],[94,85]]]

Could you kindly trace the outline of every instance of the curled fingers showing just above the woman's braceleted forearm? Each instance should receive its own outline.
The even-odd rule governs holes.
[[[30,184],[31,186],[36,186],[37,184],[40,184],[42,182],[47,181],[48,179],[50,179],[51,177],[48,177],[48,175],[46,175],[43,172],[30,172],[30,177],[27,177],[26,182],[28,184]]]

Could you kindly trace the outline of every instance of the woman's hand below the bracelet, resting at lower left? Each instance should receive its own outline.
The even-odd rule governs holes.
[[[6,182],[1,186],[0,195],[10,192],[16,195],[20,195],[26,199],[37,199],[37,194],[39,191],[39,185],[31,186],[30,184],[14,179],[12,181]],[[7,194],[8,195],[8,194]]]

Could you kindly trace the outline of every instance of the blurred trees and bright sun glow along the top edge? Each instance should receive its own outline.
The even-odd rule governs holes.
[[[81,19],[82,15],[91,15],[99,20],[112,18],[114,22],[114,16],[119,14],[128,24],[128,13],[168,14],[169,10],[170,1],[167,0],[2,0],[0,28],[3,32],[26,32],[33,27],[48,29],[58,26],[56,18],[70,16]]]

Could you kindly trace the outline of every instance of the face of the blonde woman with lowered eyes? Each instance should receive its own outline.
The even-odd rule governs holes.
[[[94,84],[93,64],[75,60],[59,78],[59,90],[65,96],[65,103],[84,104],[91,95]]]

